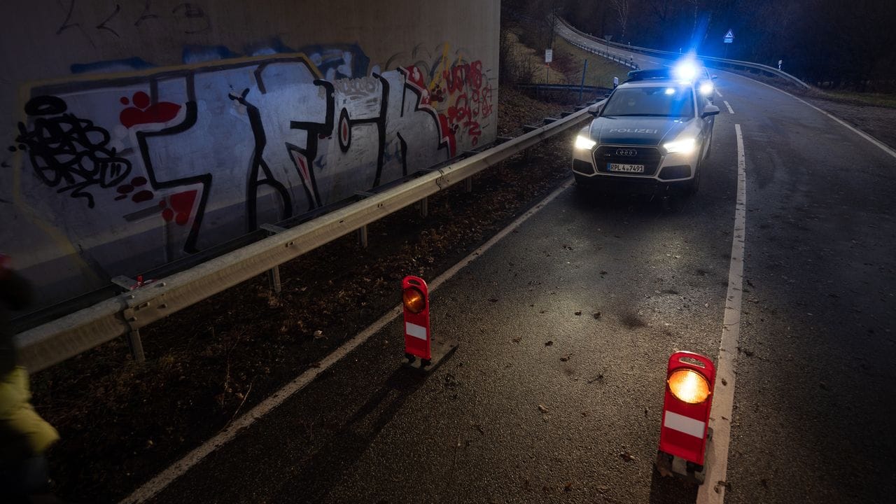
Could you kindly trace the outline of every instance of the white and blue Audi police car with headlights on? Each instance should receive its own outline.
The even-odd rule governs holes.
[[[670,70],[629,72],[594,116],[573,148],[573,175],[580,189],[626,189],[692,195],[702,161],[710,153],[719,108],[699,79]]]

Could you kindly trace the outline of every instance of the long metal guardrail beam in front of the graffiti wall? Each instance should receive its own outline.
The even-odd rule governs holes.
[[[390,213],[466,180],[483,169],[581,122],[587,109],[551,120],[529,133],[439,169],[424,170],[419,178],[323,214],[290,229],[276,228],[270,237],[116,295],[89,308],[33,327],[15,336],[20,361],[31,372],[47,369],[118,336],[132,335],[141,327],[210,298],[220,291],[364,229]],[[547,122],[547,120],[546,120]]]

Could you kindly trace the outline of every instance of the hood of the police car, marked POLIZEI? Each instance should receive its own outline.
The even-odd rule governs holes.
[[[600,145],[659,145],[676,138],[694,118],[596,117],[590,136]]]

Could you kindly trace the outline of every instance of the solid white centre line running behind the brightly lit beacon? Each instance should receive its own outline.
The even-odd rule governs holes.
[[[706,482],[697,491],[697,504],[722,504],[728,474],[728,446],[731,443],[731,413],[734,410],[734,365],[737,337],[740,335],[740,305],[744,282],[744,241],[746,238],[746,158],[744,135],[737,132],[737,204],[734,214],[734,238],[731,239],[731,264],[728,267],[728,294],[722,321],[719,364],[713,391],[710,427],[712,441],[707,445]]]

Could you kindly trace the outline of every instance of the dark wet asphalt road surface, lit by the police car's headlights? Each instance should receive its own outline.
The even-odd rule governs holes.
[[[652,462],[669,354],[719,354],[736,124],[725,500],[891,501],[896,158],[780,91],[717,86],[700,194],[569,187],[433,293],[435,336],[460,343],[438,369],[401,368],[395,319],[152,501],[694,502]]]

